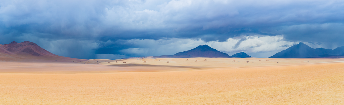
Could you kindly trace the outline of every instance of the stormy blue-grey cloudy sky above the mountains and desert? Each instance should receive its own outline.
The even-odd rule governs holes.
[[[344,46],[343,0],[0,0],[0,44],[83,59]]]

